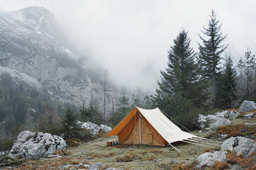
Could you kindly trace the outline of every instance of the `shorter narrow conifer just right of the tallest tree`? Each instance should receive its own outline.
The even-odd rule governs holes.
[[[236,70],[230,55],[226,57],[223,74],[219,81],[218,101],[222,108],[231,108],[237,99]]]

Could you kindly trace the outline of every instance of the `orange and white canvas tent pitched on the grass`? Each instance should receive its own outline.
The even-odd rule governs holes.
[[[118,135],[119,143],[128,145],[166,146],[178,141],[197,144],[201,138],[182,131],[159,108],[147,110],[138,107],[133,108],[106,137],[112,135]]]

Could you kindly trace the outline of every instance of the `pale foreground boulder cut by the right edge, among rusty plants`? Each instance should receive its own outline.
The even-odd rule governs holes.
[[[230,137],[221,145],[223,151],[234,151],[242,157],[249,157],[252,152],[256,152],[256,143],[246,137]]]

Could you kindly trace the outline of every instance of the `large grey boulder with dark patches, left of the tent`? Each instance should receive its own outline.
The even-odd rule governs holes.
[[[49,154],[56,150],[65,150],[67,147],[65,140],[57,135],[23,131],[18,134],[9,157],[21,156],[28,159],[39,159],[48,157]]]

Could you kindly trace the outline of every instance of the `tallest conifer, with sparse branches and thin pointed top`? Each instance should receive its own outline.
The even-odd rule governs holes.
[[[202,79],[210,82],[210,91],[213,93],[212,105],[216,105],[217,96],[217,81],[218,72],[220,72],[221,54],[226,50],[228,45],[222,44],[227,35],[222,35],[220,30],[222,24],[219,26],[219,21],[216,20],[216,14],[212,11],[210,20],[208,21],[208,28],[203,27],[201,32],[206,35],[206,39],[201,35],[199,37],[203,44],[199,45],[198,63],[201,67]]]

